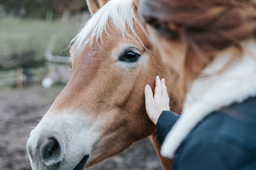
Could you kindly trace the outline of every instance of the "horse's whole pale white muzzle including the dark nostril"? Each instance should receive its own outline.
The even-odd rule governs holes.
[[[83,115],[45,114],[27,143],[32,169],[83,170],[97,140],[94,127]]]

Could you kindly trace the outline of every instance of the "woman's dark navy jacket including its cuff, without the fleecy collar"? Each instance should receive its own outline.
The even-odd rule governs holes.
[[[161,143],[179,115],[163,111],[157,120]],[[256,169],[256,97],[214,111],[189,133],[175,154],[173,169]]]

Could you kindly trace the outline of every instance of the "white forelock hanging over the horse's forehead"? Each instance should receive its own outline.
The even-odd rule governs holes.
[[[147,32],[143,24],[138,20],[135,9],[136,7],[132,0],[110,0],[86,22],[77,36],[72,39],[70,45],[76,45],[76,49],[79,49],[81,45],[93,43],[93,41],[102,41],[103,32],[106,32],[109,36],[107,31],[107,28],[109,29],[109,22],[113,24],[115,29],[117,29],[123,37],[126,35],[134,38],[135,36],[140,43],[142,43],[141,39],[134,31],[134,24],[139,25],[145,34],[147,34]]]

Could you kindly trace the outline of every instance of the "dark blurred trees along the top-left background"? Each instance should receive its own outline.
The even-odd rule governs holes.
[[[85,0],[0,0],[0,6],[6,15],[31,18],[45,18],[49,13],[60,17],[64,11],[74,14],[87,10]]]

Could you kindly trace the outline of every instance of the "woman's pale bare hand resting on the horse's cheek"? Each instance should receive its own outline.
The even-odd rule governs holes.
[[[150,85],[145,86],[146,111],[148,113],[148,117],[150,120],[152,120],[152,122],[154,122],[154,124],[157,123],[157,120],[162,111],[170,111],[169,102],[170,99],[164,78],[160,80],[159,76],[156,76],[156,88],[154,97]]]

